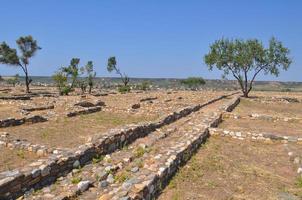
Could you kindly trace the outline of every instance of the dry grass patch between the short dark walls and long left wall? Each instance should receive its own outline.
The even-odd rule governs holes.
[[[34,144],[65,148],[83,144],[96,133],[102,133],[125,124],[149,120],[154,120],[154,118],[98,112],[73,118],[58,118],[56,121],[2,128],[1,130],[16,138],[27,139]]]

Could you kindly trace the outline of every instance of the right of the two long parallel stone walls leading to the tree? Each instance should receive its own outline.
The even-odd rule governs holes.
[[[209,136],[209,127],[216,127],[221,122],[222,112],[227,110],[232,110],[236,105],[238,105],[239,97],[232,98],[228,102],[224,109],[220,109],[219,114],[214,114],[212,117],[209,117],[207,121],[208,125],[199,132],[192,134],[190,138],[185,142],[185,145],[182,146],[175,154],[172,154],[163,166],[158,167],[157,173],[151,173],[148,177],[149,179],[142,182],[139,185],[135,185],[135,192],[128,194],[126,199],[155,199],[160,193],[163,187],[165,187],[169,180],[174,176],[180,166],[184,165],[191,156],[198,150],[200,145]],[[99,200],[105,200],[107,196],[101,196]]]

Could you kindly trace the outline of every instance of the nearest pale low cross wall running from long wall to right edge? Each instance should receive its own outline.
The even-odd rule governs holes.
[[[272,133],[252,133],[243,131],[230,131],[220,128],[210,129],[211,135],[228,136],[239,140],[250,139],[250,140],[264,140],[264,141],[280,141],[283,143],[295,142],[302,144],[302,137],[296,136],[282,136]]]

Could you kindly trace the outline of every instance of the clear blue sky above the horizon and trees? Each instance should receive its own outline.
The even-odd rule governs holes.
[[[92,60],[98,76],[109,56],[132,77],[202,76],[203,56],[221,37],[271,36],[291,49],[294,63],[278,78],[302,81],[301,0],[0,0],[0,42],[16,47],[32,35],[43,48],[31,60],[30,74],[51,75],[72,57]],[[19,73],[0,65],[0,74]]]

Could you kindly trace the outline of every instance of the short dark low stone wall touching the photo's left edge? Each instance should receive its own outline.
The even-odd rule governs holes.
[[[9,126],[19,126],[25,123],[39,123],[39,122],[46,122],[47,119],[45,117],[34,115],[29,117],[24,117],[20,119],[15,118],[8,118],[0,120],[0,128],[9,127]]]

